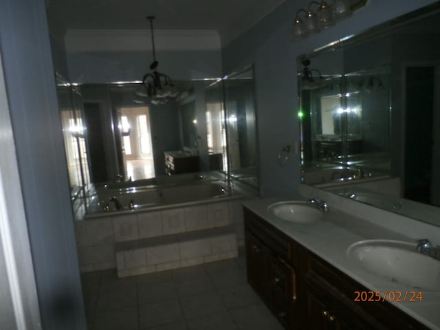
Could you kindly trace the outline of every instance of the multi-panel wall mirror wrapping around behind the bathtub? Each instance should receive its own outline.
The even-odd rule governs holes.
[[[99,187],[221,179],[258,192],[252,65],[175,85],[177,98],[154,104],[141,83],[71,85],[57,75],[76,219]]]

